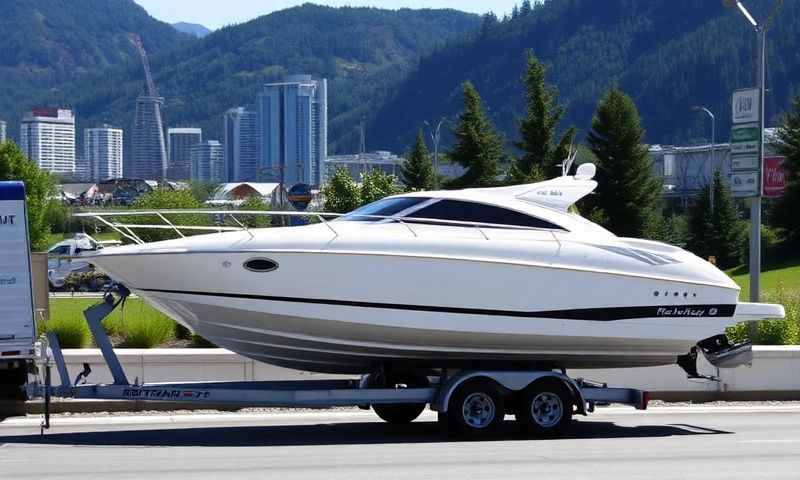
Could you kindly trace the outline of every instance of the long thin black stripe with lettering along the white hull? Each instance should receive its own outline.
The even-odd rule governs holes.
[[[246,300],[266,300],[271,302],[311,303],[317,305],[338,305],[345,307],[383,308],[388,310],[412,310],[417,312],[458,313],[464,315],[489,315],[497,317],[551,318],[557,320],[612,321],[636,318],[692,318],[692,317],[732,317],[736,305],[663,305],[641,307],[603,307],[576,308],[571,310],[544,310],[521,312],[518,310],[489,310],[484,308],[439,307],[434,305],[405,305],[396,303],[356,302],[352,300],[331,300],[321,298],[277,297],[271,295],[252,295],[246,293],[192,292],[186,290],[161,290],[140,288],[143,292],[176,293],[181,295],[200,295],[205,297],[240,298]]]

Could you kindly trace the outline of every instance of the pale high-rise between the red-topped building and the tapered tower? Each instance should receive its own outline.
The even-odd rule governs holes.
[[[88,178],[102,182],[122,177],[122,129],[103,125],[83,131],[83,150]]]

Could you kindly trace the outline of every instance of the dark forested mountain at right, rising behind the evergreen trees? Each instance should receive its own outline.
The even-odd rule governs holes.
[[[770,2],[749,2],[758,19]],[[751,6],[752,5],[752,6]],[[531,49],[548,67],[566,106],[563,127],[585,134],[598,99],[613,84],[639,107],[651,143],[729,135],[731,93],[755,84],[756,35],[734,9],[708,0],[547,0],[527,15],[486,17],[478,33],[424,58],[376,115],[368,147],[401,149],[423,121],[454,118],[460,84],[471,80],[509,143],[524,109],[521,76]],[[767,115],[774,123],[800,93],[800,2],[785,2],[769,34]],[[443,128],[443,130],[446,130]],[[447,136],[443,145],[449,142]]]

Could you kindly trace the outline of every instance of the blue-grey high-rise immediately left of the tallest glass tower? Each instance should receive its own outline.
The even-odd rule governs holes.
[[[231,108],[223,117],[225,169],[229,182],[258,179],[258,113]]]

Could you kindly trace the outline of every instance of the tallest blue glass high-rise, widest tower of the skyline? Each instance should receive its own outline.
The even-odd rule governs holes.
[[[294,75],[267,84],[258,111],[260,179],[319,185],[328,154],[328,81]]]

